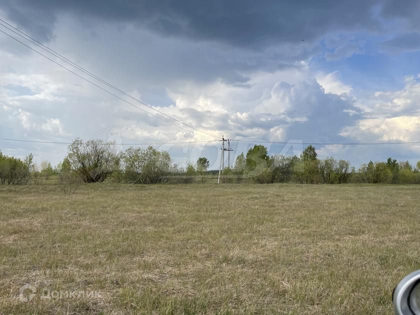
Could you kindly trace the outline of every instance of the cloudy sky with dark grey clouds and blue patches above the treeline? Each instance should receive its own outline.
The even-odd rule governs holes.
[[[1,19],[204,132],[112,91],[172,124],[148,115],[0,32],[0,137],[249,140],[232,142],[231,160],[253,139],[420,141],[419,11],[417,0],[2,0]],[[304,147],[266,145],[271,154]],[[206,155],[218,167],[218,142],[155,146],[175,161]],[[388,156],[420,159],[416,144],[316,148],[356,167]],[[53,164],[66,153],[65,144],[6,140],[0,149]]]

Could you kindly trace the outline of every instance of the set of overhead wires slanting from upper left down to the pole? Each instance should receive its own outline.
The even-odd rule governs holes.
[[[7,22],[3,21],[2,19],[0,19],[0,21],[2,21],[2,22],[4,22],[4,23],[6,23],[7,25],[10,25],[10,24],[8,24]],[[122,93],[122,94],[124,94],[124,95],[126,95],[126,96],[128,96],[128,97],[130,97],[130,98],[132,98],[132,99],[134,99],[134,100],[136,100],[137,102],[139,102],[139,103],[141,103],[141,104],[143,104],[143,105],[145,105],[145,106],[147,106],[147,107],[151,108],[152,110],[154,110],[154,111],[156,111],[156,112],[158,112],[158,113],[160,113],[160,114],[162,114],[162,115],[164,115],[164,116],[166,116],[166,117],[168,117],[168,118],[170,118],[170,119],[173,119],[173,120],[175,120],[175,121],[177,121],[177,122],[179,122],[179,123],[181,123],[181,124],[183,124],[183,125],[185,125],[185,126],[188,126],[188,127],[192,128],[192,129],[194,129],[194,130],[198,131],[198,132],[201,132],[201,133],[206,134],[206,135],[211,136],[211,137],[215,137],[214,135],[212,135],[212,134],[210,134],[210,133],[208,133],[208,132],[202,131],[202,130],[200,130],[200,129],[198,129],[198,128],[195,128],[194,126],[191,126],[191,125],[186,124],[186,123],[184,123],[184,122],[182,122],[182,121],[180,121],[180,120],[178,120],[178,119],[176,119],[176,118],[173,118],[172,116],[167,115],[167,114],[165,114],[164,112],[161,112],[160,110],[153,108],[151,105],[149,105],[149,104],[145,103],[144,101],[142,101],[142,100],[140,100],[140,99],[138,99],[138,98],[135,98],[134,96],[132,96],[132,95],[130,95],[130,94],[128,94],[128,93],[126,93],[126,92],[124,92],[123,90],[121,90],[121,89],[119,89],[119,88],[115,87],[114,85],[112,85],[112,84],[108,83],[107,81],[105,81],[105,80],[101,79],[100,77],[96,76],[95,74],[93,74],[93,73],[91,73],[91,72],[89,72],[89,71],[85,70],[84,68],[82,68],[81,66],[79,66],[79,65],[77,65],[76,63],[72,62],[71,60],[68,60],[67,58],[65,58],[65,57],[61,56],[59,53],[55,52],[54,50],[52,50],[52,49],[50,49],[50,48],[48,48],[48,47],[44,46],[43,44],[39,43],[36,39],[33,39],[33,38],[32,38],[32,37],[30,37],[29,35],[26,35],[25,33],[21,32],[20,30],[18,30],[17,28],[13,27],[12,25],[10,25],[10,26],[11,26],[11,27],[13,27],[13,28],[15,28],[16,30],[18,30],[18,31],[19,31],[19,32],[21,32],[22,34],[25,34],[25,36],[28,36],[29,38],[31,38],[31,39],[32,39],[33,41],[35,41],[35,42],[33,42],[32,40],[29,40],[29,39],[25,38],[24,36],[20,35],[19,33],[17,33],[16,31],[14,31],[14,30],[12,30],[12,29],[10,29],[9,27],[7,27],[7,26],[3,25],[2,23],[0,23],[0,25],[1,25],[1,26],[3,26],[3,27],[5,27],[5,28],[7,28],[7,29],[8,29],[8,30],[10,30],[10,31],[12,31],[13,33],[15,33],[15,34],[19,35],[20,37],[24,38],[25,40],[27,40],[27,41],[29,41],[29,42],[31,42],[31,43],[33,43],[33,44],[35,44],[36,46],[38,46],[38,47],[40,47],[41,49],[43,49],[43,50],[47,51],[48,53],[50,53],[50,54],[54,55],[55,57],[57,57],[57,58],[61,59],[62,61],[64,61],[64,62],[66,62],[66,63],[70,64],[71,66],[73,66],[73,67],[75,67],[75,68],[77,68],[78,70],[82,71],[83,73],[85,73],[85,74],[87,74],[87,75],[89,75],[89,76],[91,76],[91,77],[93,77],[93,78],[95,78],[95,79],[99,80],[100,82],[102,82],[102,83],[106,84],[107,86],[109,86],[109,87],[111,87],[111,88],[113,88],[113,89],[115,89],[115,90],[119,91],[120,93]],[[78,73],[76,73],[76,72],[72,71],[71,69],[69,69],[69,68],[67,68],[67,67],[63,66],[62,64],[60,64],[60,63],[56,62],[55,60],[53,60],[53,59],[49,58],[48,56],[46,56],[46,55],[44,55],[44,54],[42,54],[41,52],[39,52],[39,51],[37,51],[37,50],[33,49],[32,47],[30,47],[29,45],[27,45],[27,44],[23,43],[22,41],[18,40],[17,38],[13,37],[12,35],[10,35],[10,34],[8,34],[8,33],[4,32],[4,31],[2,31],[2,30],[0,30],[0,31],[1,31],[2,33],[4,33],[5,35],[9,36],[10,38],[12,38],[12,39],[16,40],[17,42],[21,43],[22,45],[24,45],[24,46],[28,47],[29,49],[33,50],[34,52],[36,52],[36,53],[40,54],[41,56],[43,56],[43,57],[47,58],[48,60],[50,60],[50,61],[52,61],[52,62],[54,62],[55,64],[59,65],[60,67],[62,67],[62,68],[64,68],[64,69],[66,69],[66,70],[68,70],[68,71],[70,71],[71,73],[73,73],[73,74],[77,75],[78,77],[80,77],[80,78],[84,79],[85,81],[87,81],[87,82],[89,82],[89,83],[93,84],[94,86],[96,86],[96,87],[98,87],[98,88],[102,89],[103,91],[105,91],[105,92],[107,92],[107,93],[109,93],[109,94],[111,94],[111,95],[113,95],[113,96],[117,97],[118,99],[120,99],[120,100],[122,100],[122,101],[124,101],[124,102],[126,102],[126,103],[128,103],[128,104],[130,104],[130,105],[132,105],[132,106],[134,106],[134,107],[136,107],[136,108],[138,108],[138,109],[140,109],[140,110],[142,110],[142,111],[144,111],[144,112],[146,112],[146,113],[148,113],[148,114],[150,114],[150,115],[152,115],[152,116],[154,116],[154,117],[156,117],[156,118],[158,118],[158,119],[160,119],[160,120],[162,120],[162,121],[165,121],[165,122],[167,122],[167,123],[169,123],[169,124],[171,124],[171,125],[173,125],[173,126],[176,126],[176,127],[178,127],[178,128],[181,128],[181,129],[183,129],[183,130],[185,130],[185,131],[188,131],[188,132],[192,132],[191,130],[188,130],[188,129],[185,129],[185,128],[181,127],[181,126],[178,126],[178,125],[176,125],[176,124],[173,124],[173,123],[171,123],[171,122],[169,122],[169,121],[167,121],[167,120],[162,119],[162,118],[161,118],[161,117],[159,117],[159,116],[156,116],[156,115],[154,115],[154,114],[152,114],[152,113],[150,113],[150,112],[148,112],[148,111],[146,111],[146,110],[144,110],[144,109],[142,109],[142,108],[140,108],[140,107],[138,107],[138,106],[134,105],[134,104],[133,104],[133,103],[131,103],[131,102],[128,102],[127,100],[125,100],[125,99],[123,99],[123,98],[119,97],[118,95],[116,95],[116,94],[114,94],[114,93],[112,93],[112,92],[108,91],[107,89],[105,89],[105,88],[103,88],[103,87],[101,87],[101,86],[97,85],[96,83],[94,83],[94,82],[92,82],[92,81],[90,81],[90,80],[86,79],[85,77],[83,77],[83,76],[79,75]],[[37,42],[37,43],[39,43],[39,44],[37,44],[36,42]],[[43,47],[42,47],[42,46],[43,46]],[[45,47],[45,48],[44,48],[44,47]],[[51,52],[51,51],[48,51],[47,49],[48,49],[48,50],[51,50],[52,52]]]

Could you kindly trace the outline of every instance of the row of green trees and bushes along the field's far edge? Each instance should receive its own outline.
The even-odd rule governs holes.
[[[24,160],[3,155],[0,151],[0,183],[27,184],[51,176],[58,177],[66,193],[73,193],[79,182],[119,183],[205,183],[217,176],[208,170],[209,161],[201,156],[185,167],[174,163],[167,151],[153,146],[129,147],[118,151],[112,141],[75,139],[67,155],[57,166],[42,161],[39,168],[29,154]],[[300,156],[268,155],[264,145],[254,145],[246,154],[240,153],[233,167],[221,173],[223,183],[274,183],[301,184],[337,183],[420,183],[420,161],[412,166],[408,161],[388,158],[386,161],[369,161],[355,169],[346,160],[333,157],[319,159],[315,148],[307,146]]]

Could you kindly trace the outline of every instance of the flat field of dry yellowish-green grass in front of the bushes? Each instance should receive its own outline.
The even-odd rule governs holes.
[[[0,313],[391,314],[393,287],[420,268],[419,192],[3,185]]]

